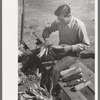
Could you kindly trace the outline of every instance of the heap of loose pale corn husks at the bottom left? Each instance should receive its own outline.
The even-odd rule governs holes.
[[[51,80],[51,89],[48,92],[45,85],[40,86],[42,74],[39,73],[39,69],[36,70],[35,80],[31,85],[26,86],[26,90],[18,93],[18,100],[56,100],[52,96],[53,80]]]

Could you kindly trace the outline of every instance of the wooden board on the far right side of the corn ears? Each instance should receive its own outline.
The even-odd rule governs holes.
[[[88,85],[88,87],[94,92],[95,91],[94,73],[81,62],[77,62],[73,64],[71,67],[80,67],[82,69],[83,77],[86,80],[92,81],[92,83]]]

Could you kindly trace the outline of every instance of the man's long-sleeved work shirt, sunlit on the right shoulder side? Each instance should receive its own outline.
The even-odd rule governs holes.
[[[59,31],[60,44],[71,45],[73,52],[83,51],[90,46],[84,23],[73,16],[69,22],[55,20],[44,29],[42,36],[48,38],[55,31]]]

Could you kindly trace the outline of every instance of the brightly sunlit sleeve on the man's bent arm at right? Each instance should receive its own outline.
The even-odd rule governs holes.
[[[78,40],[79,43],[72,45],[72,51],[80,52],[86,50],[90,46],[89,38],[87,35],[86,27],[84,24],[80,25],[78,28]]]

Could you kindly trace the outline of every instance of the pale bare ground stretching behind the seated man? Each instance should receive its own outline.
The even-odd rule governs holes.
[[[95,0],[24,0],[24,34],[37,32],[42,34],[45,26],[56,19],[55,9],[61,4],[69,4],[72,15],[79,18],[86,25],[91,46],[84,51],[90,56],[82,58],[81,61],[93,72],[95,72]],[[21,31],[22,0],[18,0],[18,36]],[[51,35],[51,41],[58,43],[58,32]]]

